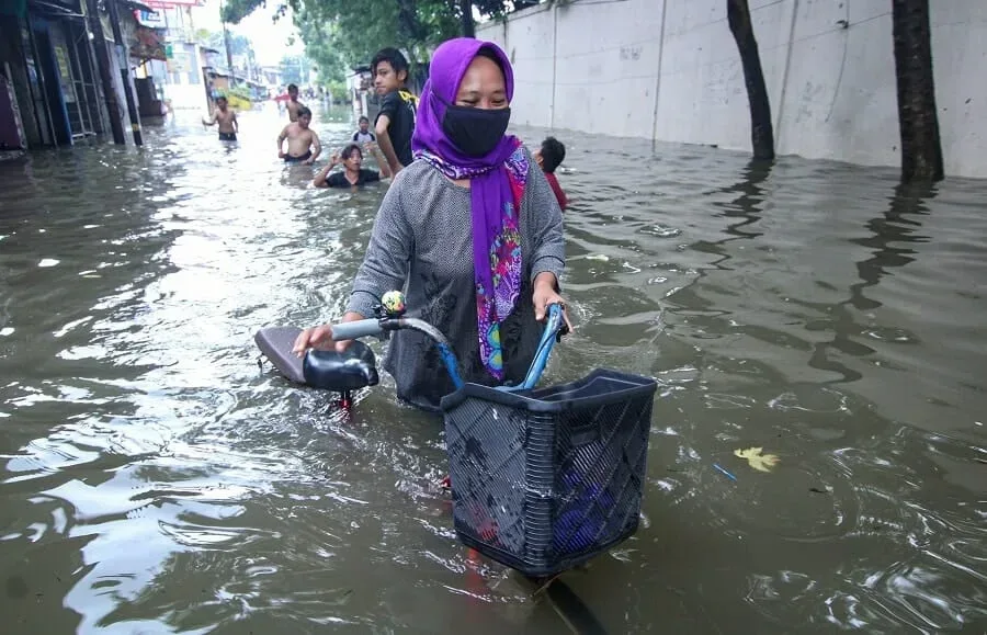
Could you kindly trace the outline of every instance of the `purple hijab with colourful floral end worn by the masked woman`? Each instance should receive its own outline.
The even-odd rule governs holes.
[[[460,82],[480,49],[490,50],[503,70],[507,99],[514,94],[514,73],[503,50],[492,42],[457,37],[432,55],[411,137],[416,158],[450,179],[469,179],[473,216],[473,267],[480,360],[498,379],[503,377],[500,322],[514,309],[521,293],[521,235],[518,207],[527,179],[521,141],[504,136],[487,155],[470,157],[442,129],[445,104],[456,101]]]

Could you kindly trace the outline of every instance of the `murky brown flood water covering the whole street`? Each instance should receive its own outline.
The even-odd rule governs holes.
[[[345,420],[257,365],[341,314],[384,188],[308,188],[273,109],[236,147],[197,116],[0,165],[4,633],[987,630],[987,182],[560,133],[543,384],[659,389],[640,529],[533,594],[456,541],[389,378]]]

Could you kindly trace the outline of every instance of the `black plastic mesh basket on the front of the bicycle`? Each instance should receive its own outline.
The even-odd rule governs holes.
[[[656,387],[595,370],[549,388],[466,384],[443,398],[460,540],[543,577],[627,538],[640,513]]]

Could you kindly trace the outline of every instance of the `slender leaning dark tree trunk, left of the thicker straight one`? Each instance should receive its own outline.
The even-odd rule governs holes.
[[[774,127],[771,125],[771,102],[758,42],[750,23],[750,8],[747,0],[727,0],[727,22],[740,52],[744,82],[747,84],[747,101],[750,107],[750,141],[755,159],[774,159]]]

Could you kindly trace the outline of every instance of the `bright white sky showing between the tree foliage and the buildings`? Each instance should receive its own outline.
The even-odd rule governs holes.
[[[192,20],[196,29],[208,29],[209,31],[222,29],[219,2],[220,0],[205,0],[202,7],[192,9]],[[230,33],[238,33],[250,38],[257,61],[261,66],[276,66],[285,54],[302,55],[305,50],[302,38],[298,37],[298,32],[292,22],[291,9],[277,22],[271,21],[277,4],[280,4],[277,0],[270,0],[266,7],[258,7],[257,11],[245,18],[239,24],[227,26]],[[287,41],[293,35],[295,43],[293,46],[288,46]]]

